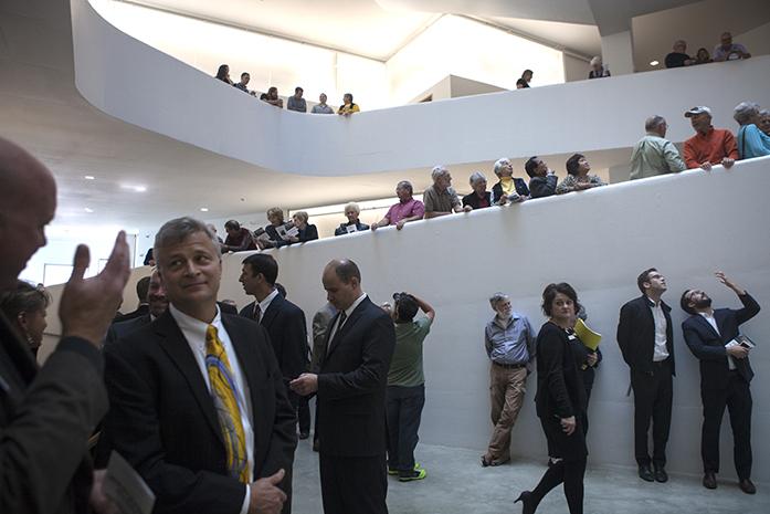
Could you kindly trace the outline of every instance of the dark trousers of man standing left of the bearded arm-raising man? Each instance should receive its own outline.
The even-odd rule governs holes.
[[[653,363],[651,373],[631,370],[634,390],[634,453],[639,465],[650,465],[647,433],[653,424],[654,465],[666,464],[666,443],[671,432],[671,408],[674,399],[674,381],[668,359]]]

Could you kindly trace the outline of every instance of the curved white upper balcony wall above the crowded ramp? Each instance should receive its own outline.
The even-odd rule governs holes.
[[[282,172],[345,176],[495,160],[500,155],[516,159],[627,148],[653,113],[666,116],[669,138],[679,141],[692,134],[682,113],[693,105],[711,106],[716,125],[734,128],[736,104],[770,104],[766,56],[534,87],[527,94],[513,91],[407,105],[349,118],[304,116],[256,102],[120,33],[87,0],[72,1],[72,17],[76,85],[94,106]]]

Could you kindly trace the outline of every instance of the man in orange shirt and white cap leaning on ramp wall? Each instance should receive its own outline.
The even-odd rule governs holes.
[[[730,130],[714,128],[711,109],[706,106],[693,107],[685,113],[695,129],[695,136],[685,141],[685,165],[687,169],[711,170],[713,165],[729,169],[738,159],[738,146]]]

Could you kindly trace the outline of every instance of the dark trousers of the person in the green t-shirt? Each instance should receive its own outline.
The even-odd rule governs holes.
[[[418,430],[422,408],[425,405],[425,386],[388,386],[388,468],[399,474],[410,474],[414,470],[414,449],[418,445]]]

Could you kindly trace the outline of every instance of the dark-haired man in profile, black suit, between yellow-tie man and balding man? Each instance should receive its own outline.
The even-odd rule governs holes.
[[[254,319],[267,331],[288,390],[288,382],[307,370],[307,326],[302,308],[279,294],[275,286],[277,277],[278,263],[272,255],[255,253],[243,260],[239,281],[243,291],[256,301],[243,307],[241,316]],[[309,409],[299,409],[302,397],[294,391],[288,390],[288,399],[295,411],[302,413],[299,439],[307,439],[310,433]]]

